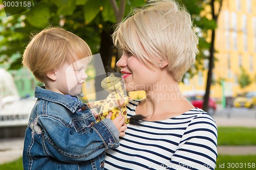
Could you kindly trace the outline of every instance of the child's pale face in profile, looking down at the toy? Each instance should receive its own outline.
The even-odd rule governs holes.
[[[83,82],[87,78],[85,69],[90,58],[80,59],[73,64],[65,63],[55,71],[56,88],[62,94],[75,96],[81,92]]]

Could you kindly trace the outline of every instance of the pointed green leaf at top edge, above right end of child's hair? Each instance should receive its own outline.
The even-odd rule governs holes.
[[[88,1],[86,5],[83,6],[84,19],[86,23],[90,23],[99,13],[100,7],[102,5],[101,1]]]

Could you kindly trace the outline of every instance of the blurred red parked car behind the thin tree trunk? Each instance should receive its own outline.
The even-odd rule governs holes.
[[[186,95],[186,99],[193,105],[195,106],[196,108],[200,108],[202,109],[203,108],[203,98],[204,98],[204,92],[190,92],[190,93],[184,93]],[[213,115],[215,114],[216,112],[216,109],[217,109],[217,105],[216,105],[216,102],[209,98],[209,101],[208,101],[208,113]]]

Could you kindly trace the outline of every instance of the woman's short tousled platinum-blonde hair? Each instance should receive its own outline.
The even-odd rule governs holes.
[[[173,0],[153,0],[134,9],[112,37],[116,46],[148,67],[167,60],[167,69],[176,81],[182,80],[198,53],[198,37],[190,15]]]

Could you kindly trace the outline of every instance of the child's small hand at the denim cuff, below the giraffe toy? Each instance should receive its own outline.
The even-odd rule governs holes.
[[[112,113],[109,113],[106,118],[111,118]],[[125,130],[127,129],[127,125],[125,124],[125,117],[122,114],[119,114],[114,120],[112,120],[115,124],[117,130],[119,131],[119,137],[122,137],[125,134]]]

